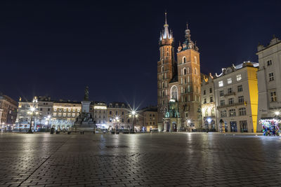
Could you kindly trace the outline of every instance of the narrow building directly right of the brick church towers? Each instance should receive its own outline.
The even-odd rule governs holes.
[[[214,78],[201,74],[202,128],[217,131]]]

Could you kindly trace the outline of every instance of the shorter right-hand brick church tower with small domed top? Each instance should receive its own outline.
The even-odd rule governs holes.
[[[201,128],[201,84],[200,53],[190,37],[190,29],[185,30],[185,41],[178,46],[178,100],[180,101],[181,123],[190,120],[191,128]]]

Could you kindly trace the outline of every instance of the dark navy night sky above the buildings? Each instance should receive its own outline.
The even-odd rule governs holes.
[[[0,92],[157,104],[159,32],[175,44],[186,22],[203,73],[251,60],[281,38],[280,1],[1,1]]]

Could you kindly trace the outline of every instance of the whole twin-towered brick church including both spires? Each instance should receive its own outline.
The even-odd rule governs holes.
[[[158,126],[167,132],[201,128],[200,53],[191,40],[190,29],[174,57],[174,38],[166,20],[159,38],[157,62]],[[190,123],[188,123],[188,121]]]

